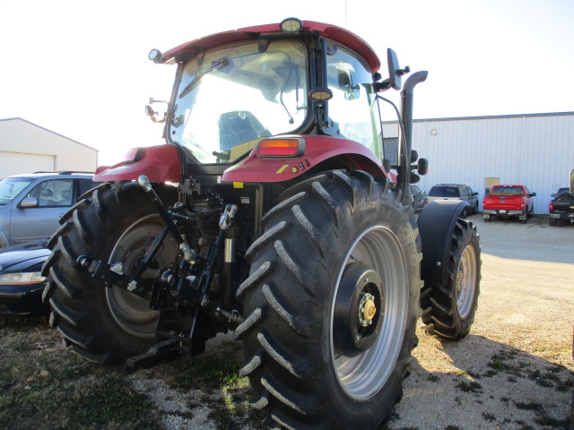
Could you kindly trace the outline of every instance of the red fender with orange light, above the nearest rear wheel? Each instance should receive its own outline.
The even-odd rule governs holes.
[[[382,163],[361,143],[323,135],[276,136],[300,140],[302,150],[294,158],[263,158],[257,155],[257,146],[248,157],[225,170],[224,182],[283,182],[314,168],[319,163],[335,157],[344,157],[352,168],[364,170],[372,176],[387,175]],[[273,138],[271,138],[273,139]],[[390,176],[389,176],[390,179]]]

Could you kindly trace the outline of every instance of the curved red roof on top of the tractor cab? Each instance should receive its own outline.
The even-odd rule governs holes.
[[[378,72],[380,60],[372,47],[363,39],[349,30],[322,22],[304,21],[302,32],[315,32],[320,36],[331,39],[344,47],[348,47],[362,56],[370,65],[373,73]],[[281,34],[282,30],[279,23],[257,25],[255,27],[245,27],[238,30],[228,30],[221,33],[215,33],[204,38],[195,39],[190,42],[173,47],[163,53],[157,63],[166,63],[174,59],[179,54],[196,55],[213,47],[220,47],[230,43],[241,42],[244,40],[257,39],[260,35]]]

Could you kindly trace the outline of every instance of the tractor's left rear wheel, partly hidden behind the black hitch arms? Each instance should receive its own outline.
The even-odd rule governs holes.
[[[52,254],[44,264],[48,276],[44,301],[51,308],[50,324],[76,354],[101,364],[122,364],[156,343],[158,312],[149,302],[117,286],[106,287],[80,271],[76,259],[122,262],[135,271],[164,227],[151,202],[135,183],[101,185],[62,218],[50,238]],[[151,262],[152,268],[173,262],[177,242],[167,236]]]

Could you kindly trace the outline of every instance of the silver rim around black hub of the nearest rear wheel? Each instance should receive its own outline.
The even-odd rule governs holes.
[[[383,322],[375,343],[357,357],[335,357],[333,366],[339,384],[356,400],[369,399],[387,383],[401,351],[408,312],[409,282],[401,245],[396,236],[382,226],[365,230],[352,244],[344,262],[366,262],[383,281],[385,305]],[[344,271],[339,271],[335,296]],[[331,308],[331,322],[334,305]],[[330,327],[330,350],[335,350],[333,325]]]

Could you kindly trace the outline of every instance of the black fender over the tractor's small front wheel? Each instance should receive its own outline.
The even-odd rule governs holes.
[[[416,221],[422,242],[421,280],[435,285],[447,282],[451,237],[467,206],[464,201],[439,200],[421,211]]]

